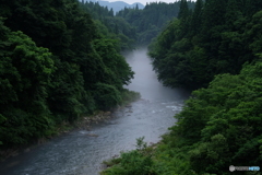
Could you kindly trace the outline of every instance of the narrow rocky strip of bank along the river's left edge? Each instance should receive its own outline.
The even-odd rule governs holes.
[[[52,128],[50,135],[48,137],[43,137],[36,140],[33,140],[28,144],[20,145],[16,148],[9,148],[5,150],[0,150],[0,162],[4,162],[9,158],[17,156],[21,153],[26,153],[32,151],[33,149],[50,141],[56,137],[60,137],[72,132],[74,130],[92,130],[93,124],[98,124],[105,121],[107,119],[114,118],[112,113],[121,109],[123,107],[130,106],[132,102],[135,102],[140,98],[140,94],[133,91],[127,91],[126,94],[122,94],[122,103],[110,108],[109,110],[96,110],[92,115],[81,115],[74,122],[62,121],[60,125]],[[91,135],[91,137],[96,137],[95,135]]]

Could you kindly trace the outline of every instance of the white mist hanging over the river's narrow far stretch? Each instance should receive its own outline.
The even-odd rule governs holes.
[[[124,52],[123,56],[135,72],[134,79],[132,79],[132,82],[126,88],[140,92],[142,98],[150,101],[172,101],[189,96],[189,92],[182,89],[164,86],[162,82],[157,80],[157,74],[153,70],[146,47],[141,47],[135,51]]]

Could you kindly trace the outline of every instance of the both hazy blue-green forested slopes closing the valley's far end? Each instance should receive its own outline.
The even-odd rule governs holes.
[[[133,49],[136,45],[148,45],[170,20],[179,12],[180,1],[172,3],[150,2],[144,9],[124,8],[114,15],[112,9],[100,7],[99,2],[82,2],[93,19],[107,26],[110,33],[121,40],[121,49]],[[189,1],[192,12],[195,2]]]

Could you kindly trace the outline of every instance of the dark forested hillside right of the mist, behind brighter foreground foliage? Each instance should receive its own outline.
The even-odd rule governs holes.
[[[261,54],[262,2],[196,1],[193,13],[182,1],[175,19],[152,44],[158,79],[168,86],[206,86],[215,74],[239,73]]]

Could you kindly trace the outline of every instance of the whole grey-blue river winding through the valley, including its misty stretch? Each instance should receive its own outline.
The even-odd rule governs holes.
[[[152,70],[146,48],[126,52],[135,72],[127,88],[141,93],[142,98],[112,115],[112,119],[96,124],[92,130],[76,130],[11,158],[0,164],[1,175],[97,175],[102,162],[135,149],[136,139],[154,143],[168,131],[189,93],[163,86]],[[91,137],[95,135],[97,137]]]

